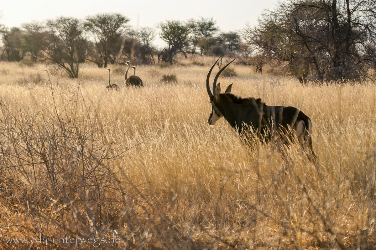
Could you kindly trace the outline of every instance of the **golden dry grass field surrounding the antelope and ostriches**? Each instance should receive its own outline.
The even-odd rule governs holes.
[[[0,249],[42,249],[39,234],[43,249],[374,249],[374,82],[303,86],[232,65],[223,89],[311,118],[317,165],[298,146],[288,163],[223,118],[208,125],[214,61],[139,66],[141,89],[113,66],[118,92],[91,64],[50,84],[42,63],[0,63]],[[177,82],[161,81],[171,73]]]

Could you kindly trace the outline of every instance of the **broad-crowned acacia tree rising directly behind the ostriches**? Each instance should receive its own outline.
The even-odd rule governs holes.
[[[95,48],[89,60],[98,67],[114,63],[123,45],[123,33],[127,30],[129,19],[120,13],[100,13],[85,18],[85,28],[94,40]]]

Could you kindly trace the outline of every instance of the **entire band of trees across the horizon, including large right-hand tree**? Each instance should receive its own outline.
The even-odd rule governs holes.
[[[77,77],[85,58],[98,65],[173,64],[176,55],[240,57],[262,73],[265,65],[300,82],[364,81],[376,69],[376,2],[374,0],[287,0],[265,10],[259,24],[221,32],[213,18],[168,20],[135,29],[120,13],[101,13],[83,20],[59,17],[21,28],[2,27],[0,60],[33,61],[48,57]],[[167,43],[152,44],[157,28]],[[46,48],[48,48],[46,50]],[[46,52],[47,51],[47,52]],[[87,53],[86,53],[87,51]]]

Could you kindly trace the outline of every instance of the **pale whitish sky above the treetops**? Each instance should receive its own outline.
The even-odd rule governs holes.
[[[213,17],[221,31],[240,30],[257,24],[264,9],[273,9],[277,0],[0,0],[2,19],[6,27],[20,27],[24,22],[44,21],[57,16],[85,18],[103,12],[119,12],[130,18],[133,27],[155,27],[171,19]],[[154,42],[164,46],[157,35]]]

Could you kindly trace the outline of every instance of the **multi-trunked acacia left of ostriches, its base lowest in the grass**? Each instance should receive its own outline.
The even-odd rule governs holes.
[[[85,61],[89,43],[84,36],[83,23],[73,17],[61,16],[48,20],[49,29],[47,55],[63,67],[72,78],[78,77],[79,63]]]

